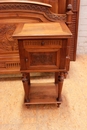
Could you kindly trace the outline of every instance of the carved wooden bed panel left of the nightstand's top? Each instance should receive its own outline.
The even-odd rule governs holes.
[[[0,51],[18,50],[17,40],[12,38],[12,34],[17,24],[0,24]]]

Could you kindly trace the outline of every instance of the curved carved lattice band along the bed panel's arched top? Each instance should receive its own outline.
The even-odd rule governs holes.
[[[30,11],[38,11],[38,13],[42,12],[45,14],[45,16],[52,20],[52,21],[58,21],[58,20],[63,20],[66,21],[66,15],[58,15],[54,14],[50,11],[48,6],[43,6],[43,5],[36,5],[33,3],[27,3],[27,4],[20,4],[20,3],[5,3],[5,4],[0,4],[0,10],[30,10]]]

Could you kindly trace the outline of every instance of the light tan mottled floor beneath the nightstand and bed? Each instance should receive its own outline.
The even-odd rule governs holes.
[[[52,82],[53,77],[32,79]],[[64,81],[60,108],[56,105],[23,104],[21,80],[0,82],[0,130],[87,130],[87,55],[71,62]]]

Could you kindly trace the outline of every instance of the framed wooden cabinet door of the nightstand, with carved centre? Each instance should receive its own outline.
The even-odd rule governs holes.
[[[59,68],[60,49],[25,50],[26,70],[50,70]]]

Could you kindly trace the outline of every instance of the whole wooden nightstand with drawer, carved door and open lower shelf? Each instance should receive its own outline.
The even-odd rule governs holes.
[[[13,37],[18,40],[25,104],[57,103],[60,105],[71,36],[69,28],[63,21],[26,23],[17,27]],[[56,73],[55,86],[48,87],[47,84],[39,88],[32,87],[31,72]]]

